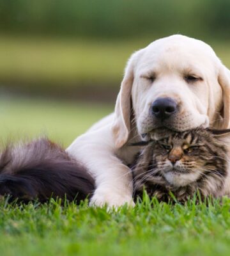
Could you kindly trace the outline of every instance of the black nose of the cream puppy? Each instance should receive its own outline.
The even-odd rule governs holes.
[[[154,116],[164,120],[173,115],[177,110],[176,102],[171,98],[158,98],[153,102],[151,111]]]

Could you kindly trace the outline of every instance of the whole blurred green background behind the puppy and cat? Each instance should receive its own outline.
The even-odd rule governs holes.
[[[67,146],[111,112],[130,54],[175,33],[230,67],[229,0],[0,0],[0,132]]]

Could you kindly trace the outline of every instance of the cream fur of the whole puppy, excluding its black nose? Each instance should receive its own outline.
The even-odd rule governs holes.
[[[188,83],[187,76],[198,79]],[[158,97],[171,97],[179,106],[173,120],[164,124],[150,114]],[[128,147],[128,143],[162,125],[177,131],[199,126],[227,128],[229,100],[230,72],[204,42],[173,35],[135,52],[125,70],[115,113],[93,125],[67,149],[96,179],[91,204],[134,204],[127,164],[138,148]]]

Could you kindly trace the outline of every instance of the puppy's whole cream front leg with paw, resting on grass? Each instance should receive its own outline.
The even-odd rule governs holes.
[[[132,173],[116,156],[108,127],[83,134],[73,141],[67,152],[84,164],[95,178],[91,205],[134,205]]]

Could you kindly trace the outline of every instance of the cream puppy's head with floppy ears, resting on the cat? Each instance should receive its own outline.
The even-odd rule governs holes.
[[[156,40],[128,61],[112,125],[115,145],[127,142],[131,121],[140,135],[160,127],[226,129],[229,95],[230,72],[209,45],[182,35]]]

